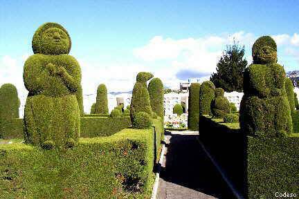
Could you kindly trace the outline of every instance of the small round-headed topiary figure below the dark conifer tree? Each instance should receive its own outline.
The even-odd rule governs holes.
[[[224,118],[230,113],[230,102],[224,97],[224,90],[222,88],[215,89],[215,99],[211,103],[212,115],[215,118]]]

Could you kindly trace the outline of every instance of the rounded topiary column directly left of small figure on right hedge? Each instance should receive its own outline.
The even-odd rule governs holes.
[[[210,81],[203,82],[199,90],[199,115],[211,115],[210,104],[214,97],[214,84]]]

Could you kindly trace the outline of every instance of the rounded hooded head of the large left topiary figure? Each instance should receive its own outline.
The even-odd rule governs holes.
[[[44,55],[69,54],[71,37],[58,23],[44,23],[35,31],[32,41],[33,53]]]

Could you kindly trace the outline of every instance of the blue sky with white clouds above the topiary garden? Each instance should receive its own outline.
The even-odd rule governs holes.
[[[31,39],[42,23],[62,24],[82,67],[84,94],[100,83],[129,91],[136,73],[150,71],[165,86],[208,78],[233,37],[251,62],[257,37],[278,42],[278,60],[299,69],[298,1],[1,1],[0,84],[22,82]]]

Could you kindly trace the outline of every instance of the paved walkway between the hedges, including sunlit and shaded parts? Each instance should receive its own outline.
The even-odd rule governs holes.
[[[197,141],[198,132],[166,131],[158,199],[228,198],[233,193]]]

